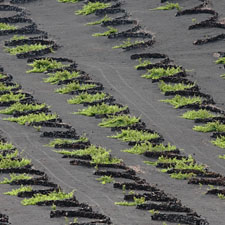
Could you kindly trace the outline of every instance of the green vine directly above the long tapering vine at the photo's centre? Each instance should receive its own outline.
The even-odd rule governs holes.
[[[88,92],[82,92],[81,94],[67,100],[69,104],[82,104],[85,102],[95,102],[106,99],[107,95],[104,92],[89,94]]]

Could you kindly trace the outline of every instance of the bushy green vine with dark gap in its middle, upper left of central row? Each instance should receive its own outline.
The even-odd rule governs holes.
[[[61,62],[57,62],[56,60],[49,58],[36,59],[33,63],[28,65],[33,67],[33,69],[28,70],[27,73],[43,73],[48,71],[49,69],[60,69],[65,66]]]

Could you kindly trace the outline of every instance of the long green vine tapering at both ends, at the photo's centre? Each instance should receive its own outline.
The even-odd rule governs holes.
[[[127,106],[119,107],[118,105],[107,105],[105,103],[88,106],[88,108],[79,110],[75,114],[84,115],[84,116],[95,116],[103,114],[115,114],[127,109]]]

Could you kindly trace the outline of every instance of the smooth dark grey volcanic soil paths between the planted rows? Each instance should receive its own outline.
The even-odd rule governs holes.
[[[184,8],[200,4],[197,0],[177,1]],[[138,3],[138,4],[137,4]],[[85,23],[97,20],[95,15],[76,16],[75,10],[83,3],[60,4],[56,0],[34,1],[23,5],[30,12],[39,29],[47,31],[49,37],[55,40],[59,48],[53,57],[67,57],[75,60],[79,68],[91,75],[94,81],[101,82],[105,91],[115,97],[118,103],[128,105],[131,114],[141,116],[147,127],[163,135],[166,141],[184,149],[185,154],[193,154],[194,158],[210,167],[211,170],[225,174],[224,160],[218,158],[223,150],[213,146],[210,134],[194,132],[192,121],[179,116],[184,110],[175,110],[170,105],[160,102],[165,98],[159,91],[157,84],[140,77],[143,71],[136,71],[137,64],[130,60],[130,55],[139,52],[159,52],[167,54],[177,65],[192,70],[191,80],[197,81],[201,91],[210,94],[217,106],[225,110],[224,85],[225,80],[220,77],[224,73],[216,65],[213,54],[224,51],[223,41],[203,46],[193,45],[193,41],[204,35],[222,33],[222,29],[188,30],[192,18],[201,21],[209,17],[207,14],[175,17],[172,11],[149,11],[160,4],[159,0],[129,0],[122,6],[131,13],[132,19],[138,19],[140,24],[156,36],[156,43],[145,50],[123,52],[112,49],[122,40],[110,40],[106,37],[92,37],[96,32],[103,32],[100,26],[84,26]],[[213,8],[224,15],[225,3],[215,0]],[[5,14],[4,14],[5,15]],[[122,29],[122,28],[121,28]],[[101,121],[95,118],[74,115],[72,112],[81,109],[81,105],[69,105],[67,95],[54,93],[56,86],[43,83],[43,74],[26,74],[30,69],[26,60],[16,59],[4,52],[3,41],[10,36],[0,36],[0,65],[5,72],[13,74],[14,80],[23,89],[31,93],[40,102],[51,105],[52,112],[60,115],[64,122],[71,124],[78,132],[85,132],[93,144],[101,145],[112,150],[114,156],[121,157],[129,166],[140,170],[140,176],[151,184],[180,199],[183,205],[194,209],[207,218],[212,225],[224,224],[224,202],[215,196],[204,195],[206,188],[198,185],[188,185],[186,181],[173,180],[167,174],[159,172],[155,167],[143,163],[143,156],[129,155],[120,150],[128,148],[126,143],[109,139],[110,129],[100,128]],[[222,66],[221,66],[222,67]],[[0,115],[0,118],[5,116]],[[35,167],[44,170],[55,183],[65,190],[76,189],[75,195],[82,202],[88,202],[99,212],[109,216],[115,225],[147,225],[162,224],[152,221],[148,211],[136,210],[134,207],[114,205],[123,200],[122,191],[113,189],[112,184],[101,185],[92,175],[93,169],[74,167],[69,165],[68,159],[44,147],[48,139],[40,138],[40,133],[31,127],[23,127],[15,123],[0,120],[2,130],[12,143],[24,149],[24,155],[31,158]],[[0,176],[2,177],[2,175]],[[1,193],[11,187],[1,185]],[[45,207],[21,206],[20,199],[1,195],[0,212],[7,214],[10,222],[15,225],[65,224],[63,219],[50,219]],[[169,224],[169,223],[167,223]]]

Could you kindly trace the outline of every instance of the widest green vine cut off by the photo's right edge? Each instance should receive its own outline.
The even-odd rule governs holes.
[[[219,121],[209,122],[203,126],[194,126],[193,130],[199,132],[225,132],[225,124],[220,123]]]

